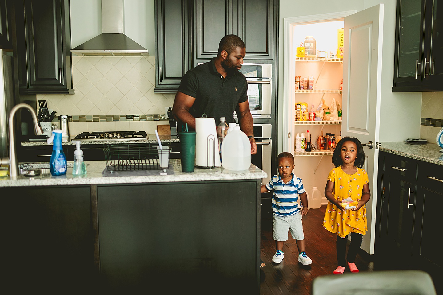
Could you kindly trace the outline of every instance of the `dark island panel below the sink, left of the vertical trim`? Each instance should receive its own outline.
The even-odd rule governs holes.
[[[0,188],[0,200],[3,291],[66,294],[93,284],[89,186]]]

